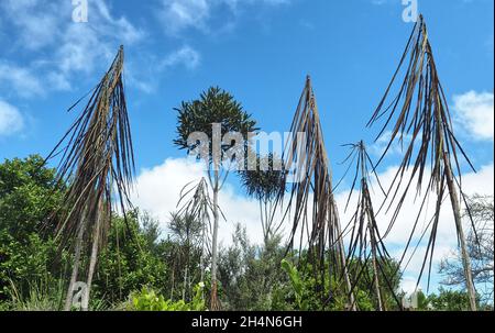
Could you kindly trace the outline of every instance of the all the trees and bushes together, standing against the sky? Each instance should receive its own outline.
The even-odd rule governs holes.
[[[404,67],[399,91],[385,108]],[[400,270],[429,196],[436,208],[424,232],[429,237],[419,279],[427,267],[431,274],[440,210],[448,197],[460,249],[439,270],[443,285],[458,289],[418,292],[417,310],[493,310],[493,198],[468,198],[462,190],[458,152],[470,162],[453,134],[422,18],[369,124],[387,118],[378,137],[392,124],[388,147],[375,164],[363,142],[349,145],[346,160],[355,174],[345,210],[354,192],[358,200],[344,230],[309,77],[280,158],[250,151],[249,134],[258,131],[256,122],[229,92],[212,87],[197,100],[182,102],[174,144],[205,163],[207,171],[185,185],[169,221],[156,221],[130,202],[134,155],[122,71],[121,47],[46,159],[30,156],[0,164],[0,310],[404,310]],[[233,132],[243,136],[241,145]],[[193,133],[201,134],[191,140]],[[406,137],[404,160],[392,186],[383,189],[376,167],[391,145]],[[246,230],[237,224],[232,244],[220,247],[219,192],[235,168],[234,157],[246,152],[255,154],[254,166],[235,171],[260,203],[263,244],[251,244]],[[54,158],[59,159],[57,168],[48,168]],[[377,210],[372,177],[385,196]],[[421,204],[396,260],[386,237],[415,181]],[[459,198],[472,226],[466,235]],[[382,209],[395,210],[385,233],[377,223]],[[276,211],[282,218],[275,218]],[[286,222],[288,240],[279,232]],[[487,288],[476,293],[475,284]]]

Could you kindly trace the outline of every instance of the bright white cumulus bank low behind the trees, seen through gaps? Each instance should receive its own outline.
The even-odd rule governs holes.
[[[391,184],[395,176],[397,168],[391,167],[380,175],[382,184],[386,187]],[[162,227],[166,226],[166,222],[169,220],[170,212],[176,211],[177,201],[183,187],[190,181],[198,181],[201,177],[206,176],[202,171],[202,166],[188,162],[185,158],[168,158],[164,164],[151,169],[142,170],[138,177],[135,193],[133,196],[133,202],[150,211],[153,215],[160,219]],[[493,164],[482,167],[477,174],[469,173],[463,175],[463,189],[466,195],[493,195],[493,180],[494,180],[494,167]],[[374,206],[375,209],[380,207],[383,197],[376,188],[373,186]],[[350,221],[352,209],[343,212],[343,207],[348,199],[349,191],[342,191],[336,196],[338,206],[341,208],[341,223],[343,226]],[[356,196],[353,197],[354,200]],[[250,238],[261,244],[263,241],[257,202],[246,198],[243,193],[239,193],[232,186],[227,186],[220,193],[219,198],[220,207],[226,214],[227,222],[220,222],[220,240],[223,244],[230,244],[234,223],[239,222],[246,226]],[[351,206],[355,203],[351,201]],[[397,219],[397,223],[392,230],[391,234],[386,238],[386,244],[391,251],[391,254],[395,258],[399,258],[403,254],[404,246],[408,240],[409,233],[413,229],[418,212],[418,201],[414,200],[414,196],[410,196],[405,204],[403,212]],[[419,222],[418,235],[413,241],[413,247],[418,243],[419,235],[427,226],[435,209],[435,202],[429,200],[428,210],[425,215],[421,217]],[[382,212],[378,214],[377,222],[382,233],[385,232],[387,222],[389,221],[391,213]],[[286,221],[286,230],[287,223]],[[466,224],[466,227],[469,225]],[[421,242],[418,249],[408,263],[404,271],[404,285],[405,291],[413,291],[416,287],[416,281],[421,269],[422,259],[426,252],[426,243]],[[453,215],[450,209],[450,201],[446,200],[440,214],[438,241],[436,252],[433,255],[433,269],[440,263],[440,259],[450,252],[457,248],[457,234],[455,224],[453,222]],[[406,258],[409,258],[411,252],[409,251]],[[437,271],[432,271],[436,274]],[[422,285],[425,281],[421,282]],[[426,287],[426,285],[424,285]],[[426,288],[425,288],[426,289]]]

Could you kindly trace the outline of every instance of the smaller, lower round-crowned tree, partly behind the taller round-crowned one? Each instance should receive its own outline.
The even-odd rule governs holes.
[[[282,227],[283,221],[276,221],[273,214],[275,198],[280,191],[283,181],[282,162],[273,153],[257,156],[255,165],[240,173],[242,186],[250,197],[254,197],[260,204],[260,220],[263,229],[263,241],[266,246]]]

